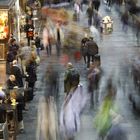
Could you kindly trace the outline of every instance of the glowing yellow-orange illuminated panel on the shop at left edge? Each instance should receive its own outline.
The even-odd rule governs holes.
[[[0,10],[0,40],[8,36],[8,11]]]

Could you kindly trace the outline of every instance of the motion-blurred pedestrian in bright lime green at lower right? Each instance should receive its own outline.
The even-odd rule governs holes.
[[[116,111],[114,103],[116,97],[116,89],[113,87],[112,80],[110,79],[107,82],[106,90],[107,93],[94,119],[95,128],[98,132],[99,138],[101,138],[102,140],[105,138],[107,132],[112,126],[111,111]]]

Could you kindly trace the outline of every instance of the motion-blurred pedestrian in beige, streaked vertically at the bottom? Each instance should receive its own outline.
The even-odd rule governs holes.
[[[41,96],[38,104],[36,140],[58,140],[58,116],[54,98]]]

